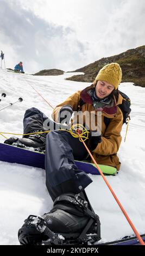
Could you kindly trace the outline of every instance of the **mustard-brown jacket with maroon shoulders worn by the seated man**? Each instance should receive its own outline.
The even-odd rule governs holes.
[[[55,107],[52,118],[54,121],[58,121],[58,114],[60,108],[64,105],[70,105],[73,111],[82,111],[95,113],[95,122],[97,125],[97,111],[100,109],[94,109],[92,105],[91,96],[87,93],[94,85],[85,88],[82,91],[78,91],[68,97],[64,102]],[[79,106],[80,99],[84,101],[82,106]],[[99,164],[106,164],[116,167],[119,170],[121,163],[119,162],[117,152],[121,144],[121,130],[123,124],[123,114],[118,107],[122,103],[123,97],[118,94],[118,100],[114,96],[114,106],[104,107],[102,111],[102,142],[97,145],[97,148],[92,151],[94,159]],[[110,118],[108,127],[105,126],[104,117]],[[75,118],[75,117],[74,117]]]

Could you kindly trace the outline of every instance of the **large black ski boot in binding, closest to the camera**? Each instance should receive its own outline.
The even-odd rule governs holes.
[[[82,193],[82,192],[81,192]],[[18,230],[21,245],[93,245],[100,240],[99,217],[80,194],[62,194],[51,212],[30,215]]]

